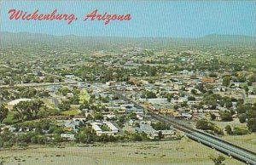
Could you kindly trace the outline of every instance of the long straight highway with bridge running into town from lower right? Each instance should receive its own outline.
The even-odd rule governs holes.
[[[151,114],[151,117],[160,121],[160,122],[168,122],[171,123],[174,128],[183,131],[190,139],[194,139],[203,145],[207,145],[221,151],[229,156],[233,156],[241,162],[245,162],[250,165],[256,165],[256,153],[253,151],[248,151],[240,146],[231,144],[224,139],[219,139],[218,137],[207,134],[205,132],[199,131],[195,128],[192,128],[188,122],[183,122],[172,117],[167,117],[164,115],[160,115],[149,109],[148,107],[138,103],[136,100],[131,100],[130,98],[126,98],[123,94],[119,93],[119,91],[113,91],[113,94],[117,94],[125,100],[131,101],[133,104],[137,105],[140,108],[143,108],[145,111],[148,111]]]

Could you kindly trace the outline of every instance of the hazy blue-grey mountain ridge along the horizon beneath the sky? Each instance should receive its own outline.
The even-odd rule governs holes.
[[[75,46],[113,46],[113,45],[134,45],[151,47],[152,45],[201,45],[201,46],[253,46],[256,44],[256,37],[239,35],[218,35],[212,34],[199,38],[177,38],[177,37],[79,37],[74,35],[52,36],[47,34],[28,32],[0,32],[0,44],[62,44]]]

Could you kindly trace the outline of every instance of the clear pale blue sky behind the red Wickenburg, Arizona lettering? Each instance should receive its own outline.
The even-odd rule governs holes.
[[[9,1],[0,4],[0,31],[45,33],[56,36],[203,37],[210,34],[256,36],[256,1]],[[75,14],[79,20],[9,20],[9,9],[48,14]],[[83,21],[98,9],[104,14],[131,14],[130,21]]]

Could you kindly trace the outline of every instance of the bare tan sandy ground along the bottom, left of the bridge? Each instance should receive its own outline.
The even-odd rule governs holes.
[[[212,165],[209,156],[221,155],[204,145],[183,138],[177,141],[118,143],[85,147],[33,148],[0,151],[3,164],[194,164]],[[226,164],[241,162],[225,156]]]

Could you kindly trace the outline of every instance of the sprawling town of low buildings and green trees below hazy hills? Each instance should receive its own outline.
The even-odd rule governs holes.
[[[253,45],[65,39],[3,45],[0,148],[185,138],[159,114],[255,151]]]

